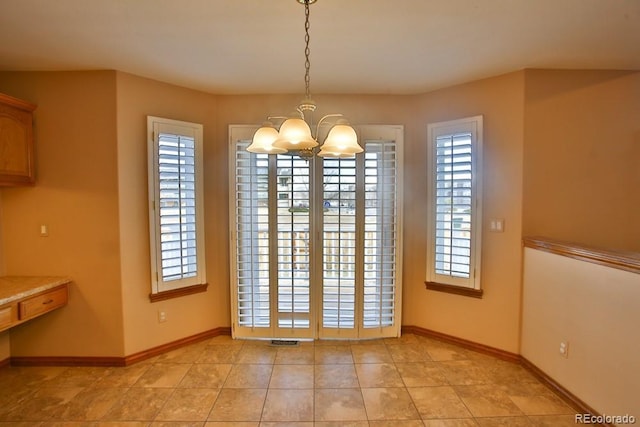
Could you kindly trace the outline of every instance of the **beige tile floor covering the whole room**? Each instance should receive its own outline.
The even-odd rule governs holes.
[[[125,368],[0,368],[0,426],[574,426],[517,364],[416,335],[228,336]]]

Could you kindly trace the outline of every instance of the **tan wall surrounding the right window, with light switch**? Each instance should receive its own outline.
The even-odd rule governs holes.
[[[420,97],[417,138],[406,152],[403,323],[513,353],[519,351],[523,73],[456,86]],[[484,116],[482,299],[426,291],[427,123]],[[504,219],[491,233],[491,218]]]

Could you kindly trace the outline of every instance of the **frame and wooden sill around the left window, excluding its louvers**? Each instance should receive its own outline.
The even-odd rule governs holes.
[[[195,242],[196,274],[174,280],[162,276],[162,248],[160,238],[160,134],[186,136],[194,140]],[[204,178],[203,178],[203,126],[161,117],[147,116],[147,158],[149,197],[149,248],[151,267],[151,302],[206,291],[206,265],[204,244]]]

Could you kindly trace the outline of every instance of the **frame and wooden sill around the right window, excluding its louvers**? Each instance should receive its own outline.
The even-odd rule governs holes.
[[[471,231],[469,277],[436,272],[436,140],[445,135],[471,134]],[[429,123],[427,125],[428,185],[427,202],[427,271],[425,285],[429,290],[482,297],[481,252],[482,252],[482,145],[483,116]],[[451,220],[453,221],[453,220]]]

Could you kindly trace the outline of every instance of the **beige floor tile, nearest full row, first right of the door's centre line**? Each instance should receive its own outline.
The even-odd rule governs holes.
[[[316,421],[366,421],[367,412],[360,389],[317,389]]]

